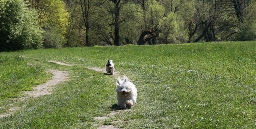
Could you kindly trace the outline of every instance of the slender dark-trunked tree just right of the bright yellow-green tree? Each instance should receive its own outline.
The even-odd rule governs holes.
[[[108,25],[108,20],[105,20],[108,14],[103,8],[107,2],[108,0],[74,0],[68,2],[71,24],[67,46],[93,46],[99,42],[99,39],[102,39],[101,36],[99,38],[96,35],[105,36],[100,30],[104,31],[105,26]]]

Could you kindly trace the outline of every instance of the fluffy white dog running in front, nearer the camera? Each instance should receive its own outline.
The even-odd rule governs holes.
[[[116,81],[116,98],[118,107],[130,108],[136,103],[137,89],[133,83],[131,83],[126,76],[122,79],[118,77]]]

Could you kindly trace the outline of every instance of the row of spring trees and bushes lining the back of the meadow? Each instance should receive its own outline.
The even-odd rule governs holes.
[[[256,39],[255,0],[0,0],[0,52]]]

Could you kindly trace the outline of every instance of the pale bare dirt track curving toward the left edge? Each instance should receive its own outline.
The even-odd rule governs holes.
[[[28,96],[26,97],[21,97],[18,98],[17,101],[26,101],[28,97],[39,97],[41,95],[47,95],[51,93],[52,88],[54,85],[57,83],[60,83],[62,81],[68,80],[68,72],[67,71],[59,71],[59,70],[54,70],[54,69],[48,69],[46,72],[50,72],[54,74],[53,78],[50,79],[47,83],[43,83],[42,85],[37,85],[36,87],[33,88],[32,91],[25,91]],[[17,111],[21,107],[12,107],[8,109],[7,113],[1,114],[1,117],[6,117],[8,115],[12,115],[14,111]]]

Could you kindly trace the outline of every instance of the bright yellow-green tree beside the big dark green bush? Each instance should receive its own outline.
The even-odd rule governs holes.
[[[43,46],[60,48],[66,42],[69,16],[62,0],[30,0],[39,14],[39,24],[45,30]],[[55,38],[54,38],[55,37]]]

